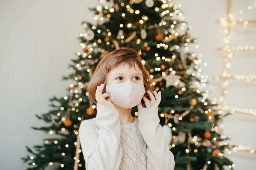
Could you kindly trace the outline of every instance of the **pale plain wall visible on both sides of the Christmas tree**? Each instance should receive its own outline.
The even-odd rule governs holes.
[[[193,27],[192,37],[198,37],[196,54],[203,54],[203,74],[209,75],[210,97],[221,95],[220,82],[212,79],[224,68],[223,55],[215,50],[223,47],[223,28],[215,23],[225,14],[225,0],[177,0],[182,5],[186,21]],[[2,0],[0,1],[0,169],[25,169],[20,160],[26,156],[25,145],[42,144],[45,134],[32,130],[40,127],[35,114],[50,110],[48,101],[53,95],[66,94],[69,82],[62,82],[62,75],[72,72],[67,69],[74,53],[81,52],[77,37],[83,31],[82,20],[93,22],[93,13],[88,5],[96,6],[94,0]],[[232,12],[239,16],[240,9],[252,5],[253,0],[233,0]],[[236,14],[236,15],[235,15]],[[244,18],[255,19],[255,9],[244,10]],[[254,17],[254,18],[253,18]],[[241,29],[243,30],[243,29]],[[234,45],[256,45],[255,29],[251,34],[234,36]],[[239,31],[239,28],[236,30]],[[240,32],[240,31],[239,31]],[[247,43],[248,42],[248,43]],[[232,74],[256,74],[256,53],[233,54]],[[239,108],[254,108],[255,83],[230,83],[227,105]],[[238,86],[239,85],[239,86]],[[231,144],[242,144],[256,148],[256,126],[254,116],[236,113],[224,121],[224,133],[231,137]],[[256,163],[255,154],[235,153],[229,156],[236,169],[251,170]]]

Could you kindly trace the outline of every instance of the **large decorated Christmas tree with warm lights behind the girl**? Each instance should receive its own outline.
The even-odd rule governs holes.
[[[38,119],[49,123],[32,127],[54,138],[44,144],[26,147],[29,155],[22,158],[31,167],[45,169],[58,164],[57,169],[85,169],[79,143],[79,125],[84,119],[96,117],[96,104],[88,99],[87,85],[94,68],[108,52],[116,48],[134,48],[149,66],[156,91],[162,92],[159,105],[160,124],[169,148],[175,156],[175,170],[218,170],[233,163],[224,157],[230,147],[221,134],[221,116],[217,104],[204,91],[207,79],[201,74],[201,57],[189,52],[197,40],[189,34],[191,26],[184,21],[180,4],[172,0],[100,0],[101,6],[89,8],[95,12],[97,24],[82,22],[80,33],[82,52],[76,53],[70,67],[73,73],[68,94],[50,99],[53,109]],[[58,104],[56,104],[58,103]],[[137,116],[137,108],[132,110]],[[89,139],[88,139],[89,140]]]

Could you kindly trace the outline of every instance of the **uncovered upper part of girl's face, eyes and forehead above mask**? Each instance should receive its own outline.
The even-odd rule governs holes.
[[[135,65],[135,68],[136,70],[134,69],[134,67],[131,67],[129,69],[129,65],[125,64],[112,69],[108,72],[107,84],[112,85],[131,81],[143,86],[143,73],[140,68],[137,67],[137,65]]]

